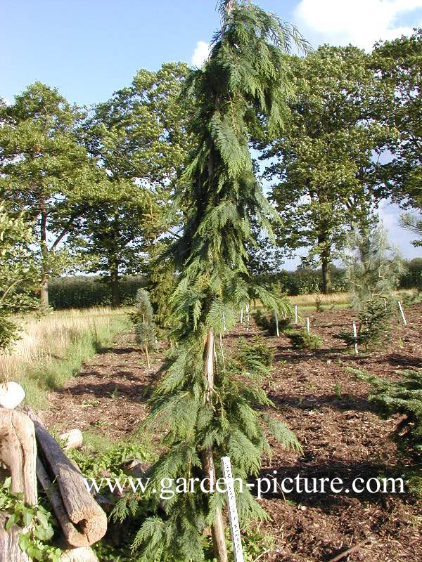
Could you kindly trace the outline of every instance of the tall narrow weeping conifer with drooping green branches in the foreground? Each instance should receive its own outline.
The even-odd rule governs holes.
[[[185,95],[197,100],[191,126],[198,147],[183,178],[188,221],[172,248],[180,272],[172,297],[179,346],[164,367],[147,420],[165,433],[167,452],[148,473],[149,490],[160,489],[162,478],[209,478],[213,485],[224,455],[231,457],[234,477],[246,481],[270,454],[265,426],[300,449],[284,424],[256,409],[271,406],[262,391],[262,365],[227,358],[215,342],[250,296],[280,314],[290,312],[285,300],[248,277],[251,221],[270,230],[266,217],[274,216],[255,178],[248,141],[257,119],[265,119],[269,131],[283,126],[286,100],[293,96],[288,51],[306,43],[293,26],[247,1],[220,2],[220,10],[222,30],[210,57],[186,82]],[[182,488],[177,482],[174,488],[181,492],[179,482]],[[237,500],[242,525],[265,517],[248,488]],[[156,496],[151,501],[158,505]],[[165,516],[147,518],[136,536],[139,561],[203,560],[203,530],[210,527],[215,558],[226,562],[224,502],[224,495],[198,489],[167,499]]]

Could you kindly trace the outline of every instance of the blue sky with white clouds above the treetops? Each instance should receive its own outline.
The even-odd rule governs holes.
[[[81,105],[106,100],[140,68],[198,62],[219,25],[215,0],[2,0],[0,96],[40,80]],[[294,22],[314,46],[370,49],[422,26],[422,0],[260,0]],[[199,44],[199,45],[198,45]],[[397,227],[398,210],[381,216],[407,257],[420,251]],[[292,264],[293,265],[293,264]]]

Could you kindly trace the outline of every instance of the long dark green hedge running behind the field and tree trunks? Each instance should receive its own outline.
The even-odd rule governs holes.
[[[400,280],[400,289],[422,289],[422,258],[406,263],[407,273]],[[333,292],[345,292],[344,270],[333,268],[331,281]],[[289,295],[320,293],[322,290],[321,270],[302,269],[281,271],[266,276],[271,282],[278,282],[283,292]],[[145,277],[127,276],[120,280],[120,301],[131,304],[140,287],[145,287]],[[58,277],[49,282],[49,299],[56,310],[62,308],[87,308],[106,306],[111,303],[110,285],[101,277]]]

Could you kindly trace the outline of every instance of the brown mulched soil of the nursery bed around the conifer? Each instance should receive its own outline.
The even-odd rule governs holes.
[[[369,385],[348,367],[398,379],[404,369],[422,367],[422,305],[405,310],[408,325],[392,325],[391,341],[382,351],[354,355],[333,334],[350,329],[350,310],[309,311],[312,332],[324,339],[316,351],[293,350],[290,341],[267,336],[251,322],[248,332],[237,325],[226,346],[238,336],[260,333],[274,348],[276,360],[266,390],[275,415],[286,421],[303,445],[302,455],[271,441],[274,455],[266,459],[262,476],[277,471],[279,481],[298,474],[308,478],[342,478],[344,489],[354,478],[400,475],[404,459],[389,438],[399,419],[378,417],[368,400]],[[305,318],[306,321],[306,318]],[[46,424],[59,431],[96,429],[108,438],[123,438],[148,414],[146,395],[162,365],[164,348],[153,354],[151,368],[132,336],[120,336],[110,348],[85,365],[65,388],[51,393]],[[349,489],[349,488],[347,488]],[[261,532],[275,537],[274,550],[262,562],[352,561],[401,562],[422,560],[422,501],[409,493],[345,492],[334,494],[281,492],[260,500],[271,516]]]

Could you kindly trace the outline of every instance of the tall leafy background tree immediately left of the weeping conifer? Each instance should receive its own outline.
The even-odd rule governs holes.
[[[158,72],[140,70],[84,124],[103,188],[89,201],[77,245],[86,270],[109,277],[115,306],[120,275],[145,272],[151,244],[163,233],[171,237],[180,220],[170,211],[190,143],[186,106],[177,102],[187,72],[173,63]]]

